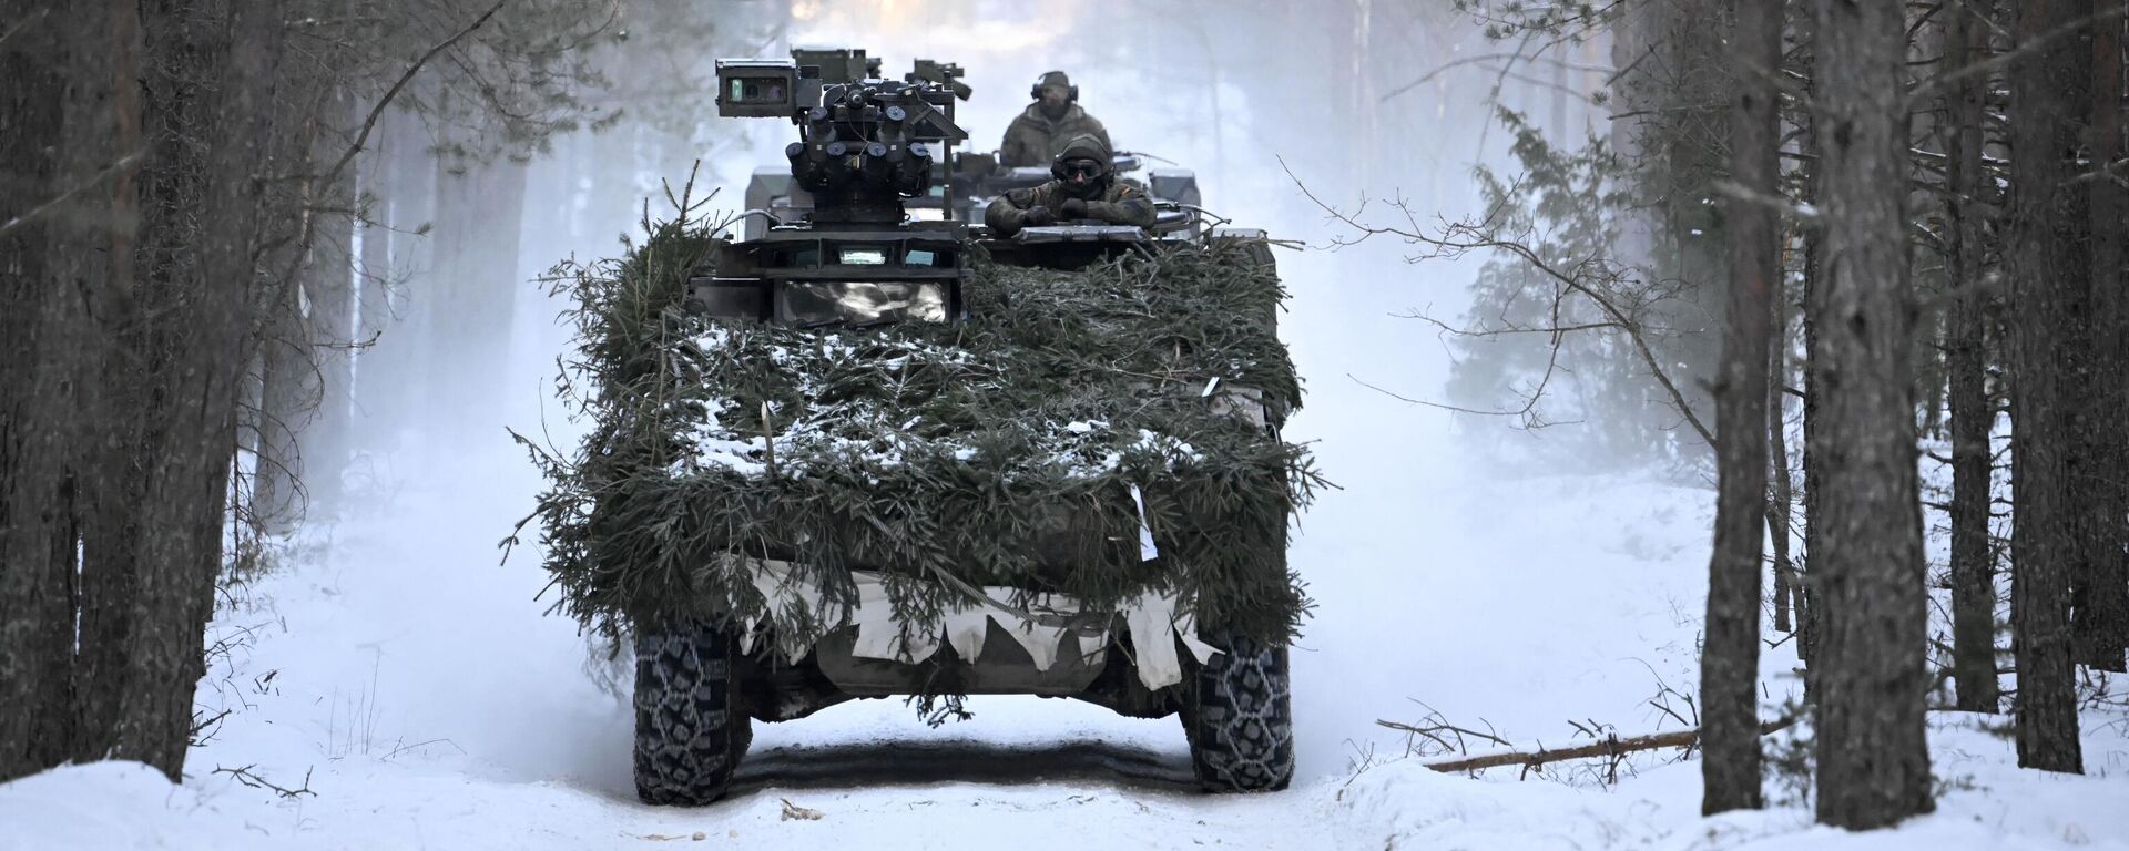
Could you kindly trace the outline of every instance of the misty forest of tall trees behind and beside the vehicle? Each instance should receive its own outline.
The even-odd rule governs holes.
[[[977,128],[1062,30],[1082,87],[1158,104],[1120,145],[1188,147],[1216,206],[1397,243],[1414,283],[1471,257],[1414,298],[1446,308],[1356,319],[1448,374],[1314,381],[1454,408],[1503,472],[1718,483],[1712,811],[1756,804],[1765,643],[1854,828],[1929,806],[1933,702],[2078,770],[2078,706],[2120,700],[2118,2],[30,2],[0,15],[0,777],[181,777],[217,600],[379,457],[494,440],[477,413],[551,351],[543,260],[698,160],[735,185],[775,128],[709,119],[711,60],[837,17],[977,21]]]

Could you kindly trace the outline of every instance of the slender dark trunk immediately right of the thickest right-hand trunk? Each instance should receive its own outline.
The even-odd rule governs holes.
[[[1988,9],[1946,9],[1944,70],[1978,62]],[[1997,711],[1995,560],[1988,549],[1988,296],[1982,287],[1982,96],[1988,79],[1967,77],[1946,94],[1946,157],[1950,185],[1950,251],[1946,253],[1952,313],[1946,323],[1946,370],[1952,408],[1952,685],[1959,708]]]

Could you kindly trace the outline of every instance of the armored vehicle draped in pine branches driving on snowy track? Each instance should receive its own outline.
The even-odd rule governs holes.
[[[564,583],[666,570],[617,604],[645,802],[717,800],[752,721],[886,696],[1179,715],[1203,787],[1292,777],[1286,523],[1314,472],[1277,436],[1299,383],[1265,234],[1152,172],[1150,230],[992,238],[979,194],[1035,174],[954,153],[958,74],[884,79],[852,49],[717,64],[720,115],[801,138],[662,326],[692,455],[609,489],[658,502],[656,530],[615,532],[658,549]]]

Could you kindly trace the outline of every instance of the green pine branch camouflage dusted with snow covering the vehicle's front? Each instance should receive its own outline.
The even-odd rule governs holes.
[[[1275,436],[1301,387],[1277,277],[1248,247],[1077,272],[977,257],[964,323],[798,330],[692,311],[711,236],[654,234],[556,268],[579,302],[562,389],[592,426],[568,453],[519,436],[549,479],[537,517],[556,608],[603,632],[769,619],[786,645],[837,625],[837,611],[762,611],[743,557],[773,557],[830,608],[852,602],[849,570],[879,570],[909,623],[969,604],[967,585],[1009,585],[1090,611],[1184,591],[1207,630],[1299,628],[1286,530],[1322,479]],[[1218,411],[1237,387],[1271,430]]]

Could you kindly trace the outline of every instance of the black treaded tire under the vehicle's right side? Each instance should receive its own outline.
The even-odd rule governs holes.
[[[1294,779],[1286,647],[1228,638],[1184,704],[1190,766],[1205,791],[1280,791]]]

